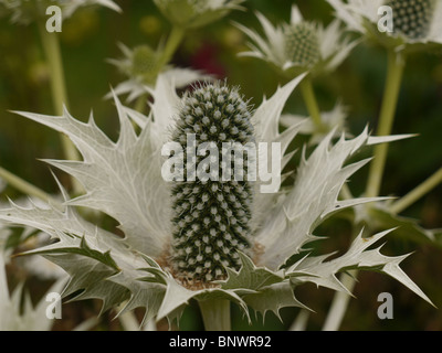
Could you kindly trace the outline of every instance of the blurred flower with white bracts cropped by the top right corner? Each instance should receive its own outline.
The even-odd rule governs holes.
[[[350,31],[398,51],[442,44],[439,0],[327,0]],[[388,9],[388,11],[387,11]]]

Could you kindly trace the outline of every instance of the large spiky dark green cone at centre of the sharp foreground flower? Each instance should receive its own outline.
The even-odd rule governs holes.
[[[212,152],[209,157],[186,153],[185,180],[172,188],[173,271],[190,286],[224,278],[225,267],[239,269],[238,250],[248,253],[251,248],[253,193],[246,168],[241,167],[248,164],[245,159],[240,163],[242,181],[223,174],[228,165],[235,175],[238,172],[236,156],[225,147],[254,141],[250,117],[250,108],[238,90],[219,83],[206,84],[183,100],[172,140],[183,150],[189,145],[199,149],[206,143],[219,151],[218,159]],[[233,158],[228,161],[229,156]],[[211,178],[194,178],[196,171],[204,170],[208,163]]]

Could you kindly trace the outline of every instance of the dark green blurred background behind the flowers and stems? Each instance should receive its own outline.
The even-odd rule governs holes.
[[[122,57],[118,42],[133,47],[139,44],[156,46],[170,29],[150,0],[117,0],[123,14],[110,10],[84,9],[63,23],[61,45],[66,75],[70,111],[77,119],[86,120],[91,110],[101,128],[110,137],[118,135],[114,105],[103,97],[125,79],[106,58]],[[232,21],[260,30],[254,11],[264,13],[273,23],[288,21],[293,3],[298,4],[308,20],[328,23],[332,8],[324,0],[248,0],[245,11],[234,11],[228,18],[203,30],[189,33],[173,58],[173,64],[203,69],[230,84],[240,85],[242,93],[259,105],[264,95],[274,93],[281,84],[269,66],[259,60],[238,57],[246,50],[246,39],[233,26]],[[365,126],[373,130],[381,104],[386,53],[382,49],[364,43],[359,45],[334,73],[318,77],[315,90],[323,110],[330,110],[340,99],[349,107],[348,125],[355,135]],[[0,165],[31,181],[48,192],[56,192],[56,184],[48,165],[39,158],[62,158],[59,135],[49,128],[28,121],[11,113],[24,110],[53,114],[49,68],[44,61],[36,26],[12,24],[0,19]],[[306,114],[298,93],[294,93],[287,111]],[[401,89],[393,133],[417,133],[415,138],[396,142],[390,154],[382,184],[382,195],[403,195],[442,165],[442,60],[436,53],[411,56],[408,61]],[[357,195],[362,192],[367,168],[351,181]],[[59,173],[57,173],[59,174]],[[63,175],[60,174],[62,180]],[[10,197],[17,191],[7,190]],[[404,213],[420,220],[425,228],[442,227],[442,188],[433,190]],[[341,220],[327,222],[322,229],[333,234],[325,247],[345,249],[349,244],[349,225]],[[393,235],[388,236],[385,252],[399,255],[414,252],[402,268],[433,300],[442,307],[442,249],[421,245]],[[17,275],[18,278],[24,275]],[[39,299],[48,284],[29,279],[32,297]],[[394,319],[379,320],[377,297],[391,292],[394,298]],[[315,313],[311,314],[308,329],[319,330],[326,317],[333,292],[303,286],[295,292]],[[357,299],[351,300],[343,330],[442,330],[442,312],[434,309],[394,280],[379,274],[361,274],[356,286]],[[55,324],[56,330],[69,330],[84,318],[97,312],[98,302],[66,304],[66,319]],[[283,330],[290,327],[297,309],[281,311],[283,322],[273,314],[249,327],[233,308],[233,329]],[[105,313],[101,330],[118,330],[119,324]],[[182,330],[201,329],[197,306],[186,310]],[[159,329],[166,329],[159,324]]]

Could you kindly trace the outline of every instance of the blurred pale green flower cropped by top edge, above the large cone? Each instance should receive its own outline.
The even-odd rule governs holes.
[[[154,0],[161,13],[181,29],[196,29],[218,21],[244,0]]]

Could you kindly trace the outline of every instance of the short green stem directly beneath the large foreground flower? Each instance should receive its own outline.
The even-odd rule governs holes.
[[[199,304],[206,331],[231,331],[229,300],[208,299]]]

